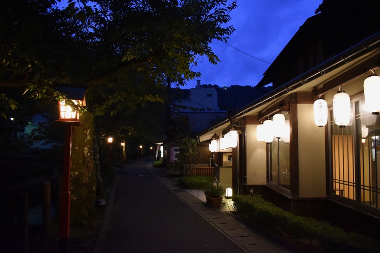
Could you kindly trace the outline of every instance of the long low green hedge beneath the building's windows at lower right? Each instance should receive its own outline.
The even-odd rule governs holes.
[[[233,195],[235,209],[253,224],[282,231],[293,239],[317,240],[324,252],[380,252],[379,241],[356,232],[346,232],[324,221],[294,215],[265,201],[260,195]]]

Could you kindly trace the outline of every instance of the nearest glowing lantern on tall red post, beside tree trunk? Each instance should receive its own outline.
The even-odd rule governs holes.
[[[59,204],[59,248],[60,252],[68,252],[68,237],[70,233],[70,166],[72,126],[82,126],[79,121],[78,106],[85,106],[83,87],[58,87],[57,90],[66,94],[66,99],[58,102],[58,124],[65,125],[65,151],[62,172],[62,189]],[[75,108],[76,107],[76,108]]]

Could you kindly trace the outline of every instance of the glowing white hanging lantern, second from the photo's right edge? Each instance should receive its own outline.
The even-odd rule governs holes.
[[[350,96],[339,90],[333,97],[334,122],[339,127],[345,127],[351,120]]]

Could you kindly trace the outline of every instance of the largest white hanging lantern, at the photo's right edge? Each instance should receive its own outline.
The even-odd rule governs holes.
[[[364,99],[367,108],[372,114],[380,112],[380,77],[378,75],[369,76],[364,80]]]

